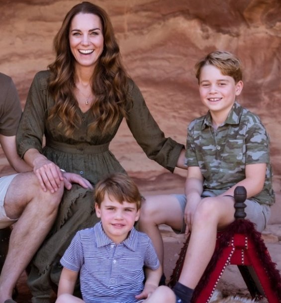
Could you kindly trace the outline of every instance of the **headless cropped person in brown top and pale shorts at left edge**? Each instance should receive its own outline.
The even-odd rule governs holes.
[[[15,135],[21,117],[15,85],[0,73],[0,144],[11,167],[19,172],[0,177],[0,237],[13,224],[9,244],[0,238],[0,303],[12,303],[12,291],[21,273],[49,232],[63,194],[64,183],[85,188],[89,181],[73,173],[64,173],[56,191],[43,191],[37,177],[16,152]],[[8,237],[5,237],[8,240]],[[2,251],[8,245],[7,256]]]

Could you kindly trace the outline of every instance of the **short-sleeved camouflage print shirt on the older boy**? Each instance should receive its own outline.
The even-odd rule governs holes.
[[[203,191],[215,195],[245,179],[247,164],[267,163],[263,190],[251,197],[272,205],[269,135],[260,118],[234,103],[226,121],[217,130],[212,127],[210,112],[193,120],[187,129],[187,165],[199,166],[204,177]]]

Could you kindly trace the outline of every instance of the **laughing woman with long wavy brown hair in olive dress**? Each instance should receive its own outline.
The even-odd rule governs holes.
[[[90,2],[75,5],[55,36],[54,48],[54,62],[32,82],[16,136],[18,152],[42,188],[57,188],[60,168],[81,174],[93,186],[108,173],[125,172],[109,151],[123,119],[149,158],[172,172],[176,165],[184,167],[184,146],[165,138],[151,116],[123,67],[102,8]],[[33,303],[50,301],[71,239],[98,221],[92,199],[93,192],[79,186],[64,194],[56,222],[32,262],[28,285]]]

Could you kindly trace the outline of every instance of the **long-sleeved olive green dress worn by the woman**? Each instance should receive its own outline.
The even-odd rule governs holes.
[[[79,110],[82,124],[71,137],[67,137],[58,127],[59,118],[47,120],[54,106],[47,89],[48,77],[48,71],[41,71],[31,84],[16,135],[20,156],[35,148],[59,167],[80,174],[93,185],[108,173],[124,172],[108,149],[123,117],[119,117],[114,129],[101,134],[98,130],[88,130],[89,124],[94,121],[91,111],[83,113]],[[131,99],[132,103],[128,102],[126,121],[133,137],[150,159],[173,172],[184,146],[165,138],[131,79],[128,80],[128,87],[128,100]],[[44,135],[46,143],[42,148]],[[32,261],[28,284],[34,296],[33,303],[50,302],[50,290],[58,284],[61,272],[59,260],[64,251],[78,230],[93,226],[97,220],[91,190],[77,184],[70,191],[65,190],[56,222]]]

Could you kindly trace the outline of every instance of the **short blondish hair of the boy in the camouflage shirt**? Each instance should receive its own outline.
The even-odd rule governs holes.
[[[235,83],[242,80],[242,63],[234,54],[227,51],[213,51],[195,64],[195,76],[199,82],[201,69],[205,65],[213,65],[225,76],[230,76]]]

